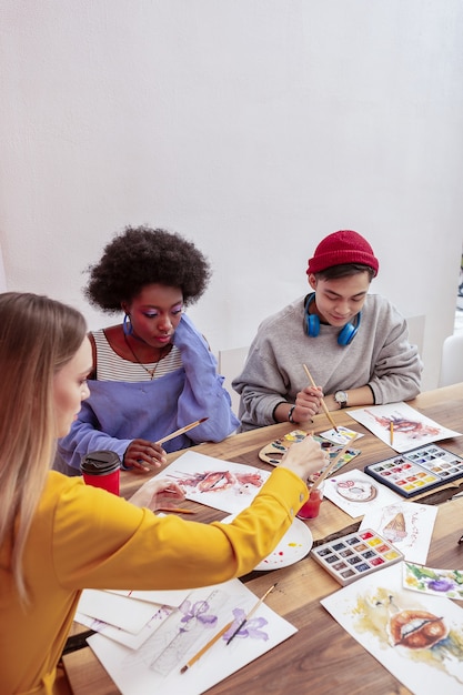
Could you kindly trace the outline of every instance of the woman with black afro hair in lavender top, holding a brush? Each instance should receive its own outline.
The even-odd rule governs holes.
[[[59,456],[80,472],[91,451],[114,451],[125,469],[150,470],[165,452],[204,441],[219,442],[239,421],[217,373],[215,357],[185,315],[208,286],[204,255],[177,233],[148,226],[115,235],[89,269],[84,294],[107,313],[124,312],[122,323],[90,333],[93,371],[90,397]],[[165,444],[157,440],[207,417]]]

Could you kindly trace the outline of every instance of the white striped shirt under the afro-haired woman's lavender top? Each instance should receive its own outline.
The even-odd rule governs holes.
[[[92,332],[97,346],[97,381],[152,381],[149,374],[138,362],[124,360],[113,351],[104,335],[103,329]],[[174,372],[182,366],[180,350],[173,345],[165,357],[159,362],[144,365],[147,370],[155,370],[153,379]]]

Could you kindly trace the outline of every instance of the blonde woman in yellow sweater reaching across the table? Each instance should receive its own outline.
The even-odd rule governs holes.
[[[192,588],[250,572],[289,528],[308,497],[304,481],[324,463],[320,446],[306,437],[233,523],[209,525],[150,511],[167,482],[147,483],[132,504],[50,471],[56,437],[69,431],[89,395],[85,333],[82,315],[60,302],[0,294],[4,695],[53,693],[83,588]]]

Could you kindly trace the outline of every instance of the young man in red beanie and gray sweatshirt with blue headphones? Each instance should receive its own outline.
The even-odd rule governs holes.
[[[379,262],[351,230],[323,239],[306,270],[312,291],[265,319],[244,369],[241,430],[294,425],[321,411],[393,403],[420,393],[422,362],[406,322],[379,294],[369,294]],[[309,367],[318,387],[308,384]]]

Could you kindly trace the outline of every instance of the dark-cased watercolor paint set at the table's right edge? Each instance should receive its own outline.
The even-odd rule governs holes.
[[[364,472],[403,497],[413,497],[463,477],[463,459],[429,444],[372,463]]]

